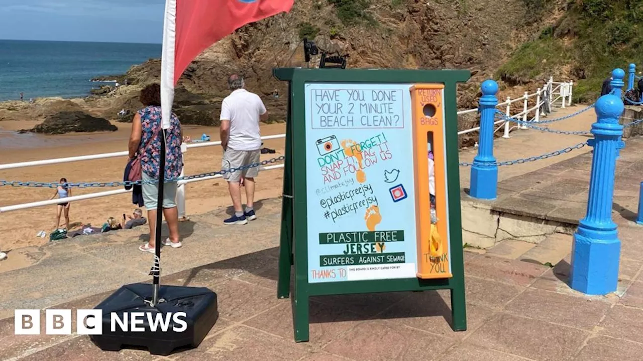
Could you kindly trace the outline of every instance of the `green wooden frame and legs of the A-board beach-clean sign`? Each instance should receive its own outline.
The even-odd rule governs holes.
[[[294,265],[294,340],[296,342],[309,340],[309,297],[318,295],[448,289],[451,290],[453,320],[451,326],[455,331],[466,330],[456,88],[458,82],[469,80],[471,73],[466,70],[277,68],[273,69],[273,75],[278,80],[287,81],[289,84],[277,295],[279,298],[289,297],[291,266]],[[446,189],[450,224],[448,242],[451,249],[452,277],[309,282],[309,236],[307,229],[311,218],[307,215],[305,87],[307,84],[332,83],[373,84],[374,87],[382,84],[444,85]],[[314,219],[314,217],[312,218]]]

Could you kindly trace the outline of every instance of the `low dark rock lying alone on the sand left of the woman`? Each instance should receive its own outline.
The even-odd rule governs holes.
[[[118,128],[105,118],[96,118],[84,111],[63,111],[48,116],[31,132],[65,134],[71,132],[114,132]]]

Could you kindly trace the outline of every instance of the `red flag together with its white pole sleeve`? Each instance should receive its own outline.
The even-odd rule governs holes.
[[[163,129],[170,126],[174,85],[197,55],[250,22],[289,12],[294,0],[166,0],[161,56]]]

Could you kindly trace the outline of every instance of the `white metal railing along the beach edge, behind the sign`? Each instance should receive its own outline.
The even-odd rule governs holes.
[[[556,87],[554,87],[554,84],[556,84]],[[572,82],[554,82],[553,78],[549,78],[548,82],[543,85],[543,87],[539,87],[538,90],[532,94],[529,94],[529,92],[525,92],[525,94],[519,98],[516,99],[511,99],[507,97],[506,101],[503,101],[502,103],[498,103],[496,107],[505,107],[505,114],[507,116],[518,119],[522,118],[522,121],[534,121],[538,122],[540,119],[541,115],[541,106],[545,104],[545,98],[543,97],[543,94],[547,92],[548,98],[549,99],[549,104],[552,105],[554,101],[557,101],[559,99],[562,99],[561,101],[561,107],[565,108],[565,102],[567,102],[567,105],[570,105],[572,103]],[[554,91],[559,91],[559,94],[555,100],[552,100],[552,94],[554,94]],[[528,108],[529,106],[529,100],[530,98],[536,97],[536,105],[534,107]],[[517,103],[518,101],[522,101],[522,111],[519,112],[518,114],[511,115],[511,105],[513,103]],[[463,115],[463,114],[470,114],[478,112],[478,108],[473,108],[473,109],[466,109],[466,110],[460,110],[458,111],[458,115]],[[534,116],[532,118],[529,118],[529,114],[534,112]],[[494,123],[494,125],[498,125],[500,123],[504,123],[500,127],[496,128],[495,131],[498,131],[500,128],[504,127],[505,128],[505,133],[503,135],[504,138],[509,138],[509,132],[511,132],[512,129],[518,128],[518,126],[511,127],[510,123],[511,121],[506,121],[505,119],[498,120]],[[526,126],[523,126],[523,128],[526,128]],[[471,129],[466,129],[466,130],[461,130],[458,132],[458,135],[462,134],[467,134],[471,132],[476,132],[477,130],[480,130],[480,127],[475,127]],[[285,138],[285,134],[276,134],[273,136],[264,136],[261,137],[262,140],[268,140],[268,139],[281,139]],[[221,145],[221,141],[211,141],[211,142],[203,142],[203,143],[192,143],[187,145],[187,148],[201,148],[204,146],[215,146],[215,145]],[[105,158],[114,158],[114,157],[125,157],[128,155],[128,152],[113,152],[113,153],[104,153],[104,154],[90,154],[90,155],[80,155],[77,157],[65,157],[65,158],[54,158],[54,159],[43,159],[41,161],[29,161],[29,162],[20,162],[20,163],[8,163],[8,164],[0,164],[0,170],[8,170],[8,169],[15,169],[15,168],[24,168],[24,167],[30,167],[30,166],[43,166],[43,165],[48,165],[48,164],[60,164],[60,163],[71,163],[71,162],[77,162],[77,161],[89,161],[89,160],[94,160],[94,159],[105,159]],[[266,166],[266,167],[260,167],[259,170],[264,171],[264,170],[273,170],[273,169],[278,169],[278,168],[284,168],[284,164],[277,164],[274,166]],[[188,184],[192,182],[199,182],[201,180],[208,180],[208,179],[215,179],[215,178],[221,178],[221,175],[214,175],[211,177],[203,177],[203,178],[197,178],[197,179],[190,179],[190,180],[181,180],[179,181],[179,184]],[[3,206],[0,207],[0,213],[5,213],[8,211],[17,211],[19,209],[28,209],[28,208],[33,208],[33,207],[42,207],[42,206],[50,206],[52,204],[60,204],[60,203],[65,203],[65,202],[74,202],[77,200],[86,200],[86,199],[91,199],[91,198],[100,198],[100,197],[107,197],[111,195],[119,195],[123,193],[128,193],[131,190],[125,190],[125,189],[115,189],[111,191],[104,191],[104,192],[97,192],[97,193],[89,193],[86,195],[77,195],[73,197],[68,197],[68,198],[59,198],[59,199],[53,199],[53,200],[42,200],[39,202],[30,202],[30,203],[23,203],[23,204],[15,204],[13,206]],[[185,199],[179,200],[185,202]]]

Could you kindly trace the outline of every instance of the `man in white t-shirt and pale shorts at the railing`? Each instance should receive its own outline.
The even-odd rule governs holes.
[[[253,92],[244,89],[241,76],[233,74],[228,78],[232,91],[221,103],[221,146],[223,147],[222,169],[239,168],[259,163],[261,135],[259,121],[266,121],[268,112],[264,102]],[[255,198],[255,177],[258,167],[224,173],[228,180],[230,197],[235,214],[223,221],[224,224],[247,224],[257,219],[253,202]],[[240,182],[246,188],[246,209],[241,204]]]

